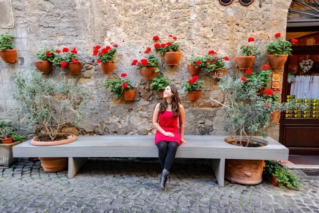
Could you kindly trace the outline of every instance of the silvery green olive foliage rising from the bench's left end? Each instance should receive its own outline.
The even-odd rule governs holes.
[[[90,100],[91,95],[73,80],[55,82],[43,79],[41,72],[33,72],[31,78],[15,73],[14,98],[22,102],[21,113],[29,121],[28,128],[43,125],[52,140],[56,133],[67,123],[70,112],[75,115],[75,125],[82,118],[82,103]]]

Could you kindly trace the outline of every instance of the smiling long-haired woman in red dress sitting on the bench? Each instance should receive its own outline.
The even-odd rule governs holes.
[[[173,164],[177,148],[184,140],[185,110],[181,104],[177,89],[174,85],[168,85],[164,90],[164,98],[155,107],[153,114],[153,126],[157,129],[155,145],[159,149],[159,162],[162,173],[159,174],[159,185],[163,189],[170,181],[169,170]],[[179,121],[180,133],[177,123]]]

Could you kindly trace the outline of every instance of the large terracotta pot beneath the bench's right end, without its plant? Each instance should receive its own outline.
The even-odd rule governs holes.
[[[225,178],[235,183],[256,185],[263,181],[264,160],[225,160]]]

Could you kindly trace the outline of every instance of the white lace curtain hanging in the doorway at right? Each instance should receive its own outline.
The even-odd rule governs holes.
[[[319,76],[296,76],[291,83],[290,95],[295,98],[319,98]]]

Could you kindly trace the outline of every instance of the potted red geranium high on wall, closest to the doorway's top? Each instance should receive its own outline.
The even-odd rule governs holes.
[[[280,33],[276,33],[275,37],[279,38]],[[278,39],[277,41],[270,42],[267,46],[268,52],[268,62],[271,68],[281,68],[288,58],[288,55],[291,55],[291,46],[292,43],[298,42],[297,39],[291,39],[291,42]]]

